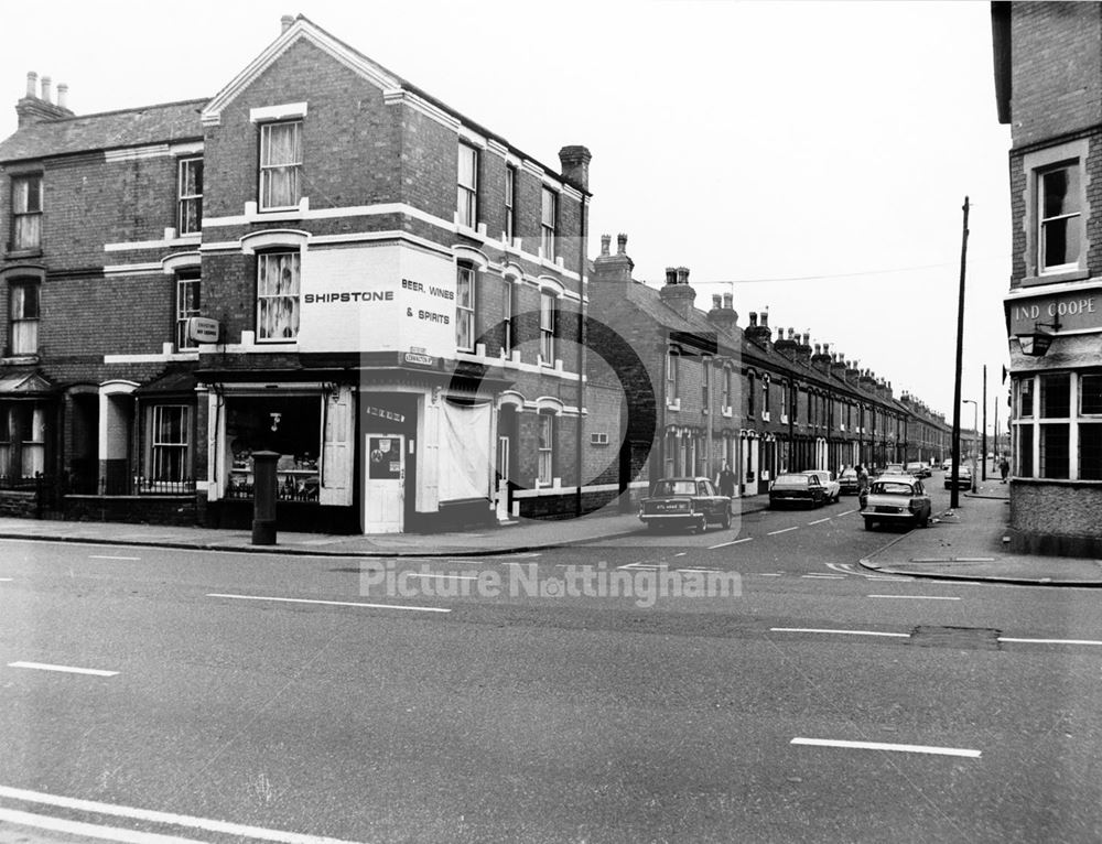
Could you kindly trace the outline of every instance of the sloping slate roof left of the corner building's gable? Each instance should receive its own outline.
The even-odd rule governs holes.
[[[0,142],[0,162],[203,138],[206,99],[29,123]]]

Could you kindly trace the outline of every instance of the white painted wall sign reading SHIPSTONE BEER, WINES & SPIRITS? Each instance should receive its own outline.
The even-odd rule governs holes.
[[[455,263],[404,244],[316,248],[302,258],[301,351],[455,354]]]

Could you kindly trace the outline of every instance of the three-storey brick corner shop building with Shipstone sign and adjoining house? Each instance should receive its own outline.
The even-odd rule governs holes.
[[[241,527],[273,451],[279,523],[353,532],[615,493],[620,393],[583,392],[575,342],[585,148],[548,166],[301,15],[213,98],[75,116],[32,74],[17,109],[4,486]]]

